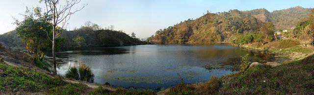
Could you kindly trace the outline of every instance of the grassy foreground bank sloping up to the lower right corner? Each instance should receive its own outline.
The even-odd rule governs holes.
[[[313,94],[314,55],[277,67],[255,67],[205,83],[178,85],[163,94]]]

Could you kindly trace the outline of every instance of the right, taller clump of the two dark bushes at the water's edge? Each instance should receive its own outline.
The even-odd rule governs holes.
[[[82,81],[94,82],[94,74],[90,67],[81,63],[78,68],[79,77]]]

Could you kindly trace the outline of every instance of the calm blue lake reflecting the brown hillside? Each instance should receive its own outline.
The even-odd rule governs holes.
[[[126,47],[67,49],[57,57],[68,62],[57,66],[64,75],[69,67],[85,63],[95,74],[95,83],[114,87],[160,89],[181,83],[204,82],[211,75],[222,76],[236,71],[231,68],[207,70],[205,65],[239,59],[254,53],[225,44],[216,45],[139,45]],[[254,55],[257,59],[263,59]],[[268,59],[265,59],[268,60]],[[228,65],[226,66],[228,67]],[[230,66],[229,66],[230,67]]]

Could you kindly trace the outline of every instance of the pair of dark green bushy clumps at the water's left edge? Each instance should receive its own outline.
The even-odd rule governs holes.
[[[65,74],[66,78],[74,78],[76,80],[94,82],[94,74],[90,67],[86,66],[84,63],[81,63],[78,67],[72,67]]]

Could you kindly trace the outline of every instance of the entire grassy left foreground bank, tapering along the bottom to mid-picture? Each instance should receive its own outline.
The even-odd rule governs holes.
[[[69,83],[61,76],[53,77],[44,72],[28,67],[10,66],[0,63],[0,94],[113,94],[113,95],[152,95],[151,91],[129,91],[117,88],[115,91],[90,88],[83,83]]]

